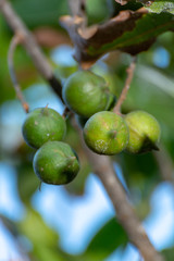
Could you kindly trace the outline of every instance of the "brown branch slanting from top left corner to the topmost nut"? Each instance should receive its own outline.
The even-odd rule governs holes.
[[[36,69],[41,76],[50,84],[57,95],[62,99],[61,83],[53,75],[52,69],[35,41],[33,34],[27,29],[23,21],[14,12],[8,0],[0,0],[0,12],[15,35],[21,35],[21,44],[30,55]]]

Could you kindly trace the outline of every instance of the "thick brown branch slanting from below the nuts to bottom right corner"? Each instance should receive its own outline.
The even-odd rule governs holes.
[[[78,125],[74,123],[74,121],[73,125],[79,134],[84,151],[91,163],[92,170],[102,182],[114,206],[116,217],[124,227],[129,240],[140,251],[145,261],[164,261],[163,257],[157,252],[150,243],[145,228],[136,216],[132,204],[127,200],[125,190],[115,175],[111,159],[107,156],[98,156],[89,150],[84,142],[82,129],[79,129]]]

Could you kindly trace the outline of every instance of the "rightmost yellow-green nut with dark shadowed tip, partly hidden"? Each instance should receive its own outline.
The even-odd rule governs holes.
[[[141,153],[157,150],[160,140],[160,125],[158,121],[145,111],[133,111],[125,115],[129,128],[129,141],[126,151]]]

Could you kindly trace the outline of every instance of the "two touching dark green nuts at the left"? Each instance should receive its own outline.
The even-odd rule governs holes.
[[[23,124],[23,136],[28,146],[38,149],[34,157],[34,171],[41,182],[67,184],[79,171],[74,150],[61,141],[66,133],[64,119],[50,108],[30,112]]]

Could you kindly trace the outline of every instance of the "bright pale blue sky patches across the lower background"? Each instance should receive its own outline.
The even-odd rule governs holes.
[[[158,203],[157,203],[158,202]],[[174,194],[172,185],[159,185],[151,198],[152,211],[144,225],[157,247],[161,250],[174,245]],[[33,197],[33,206],[44,216],[44,220],[61,236],[62,248],[70,253],[85,250],[95,233],[110,217],[114,210],[100,181],[90,175],[83,198],[70,197],[63,187],[44,185],[41,191]],[[8,164],[0,164],[0,213],[12,220],[18,220],[25,214],[16,190],[15,172]],[[69,216],[69,225],[67,225]],[[71,221],[71,222],[70,222]],[[0,243],[3,246],[0,260],[17,256],[15,243],[0,224]],[[133,246],[126,248],[123,261],[138,260],[138,253]],[[119,251],[107,261],[116,261]]]

